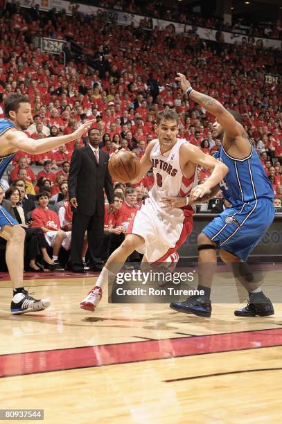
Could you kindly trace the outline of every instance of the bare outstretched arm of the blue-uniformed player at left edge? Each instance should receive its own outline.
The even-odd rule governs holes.
[[[22,150],[23,152],[31,154],[49,152],[49,150],[53,150],[61,144],[80,139],[82,134],[89,130],[89,127],[91,127],[94,121],[95,120],[87,121],[72,134],[58,137],[48,137],[46,139],[40,140],[31,139],[24,132],[11,128],[1,136],[1,155],[12,154],[17,152],[17,150]]]

